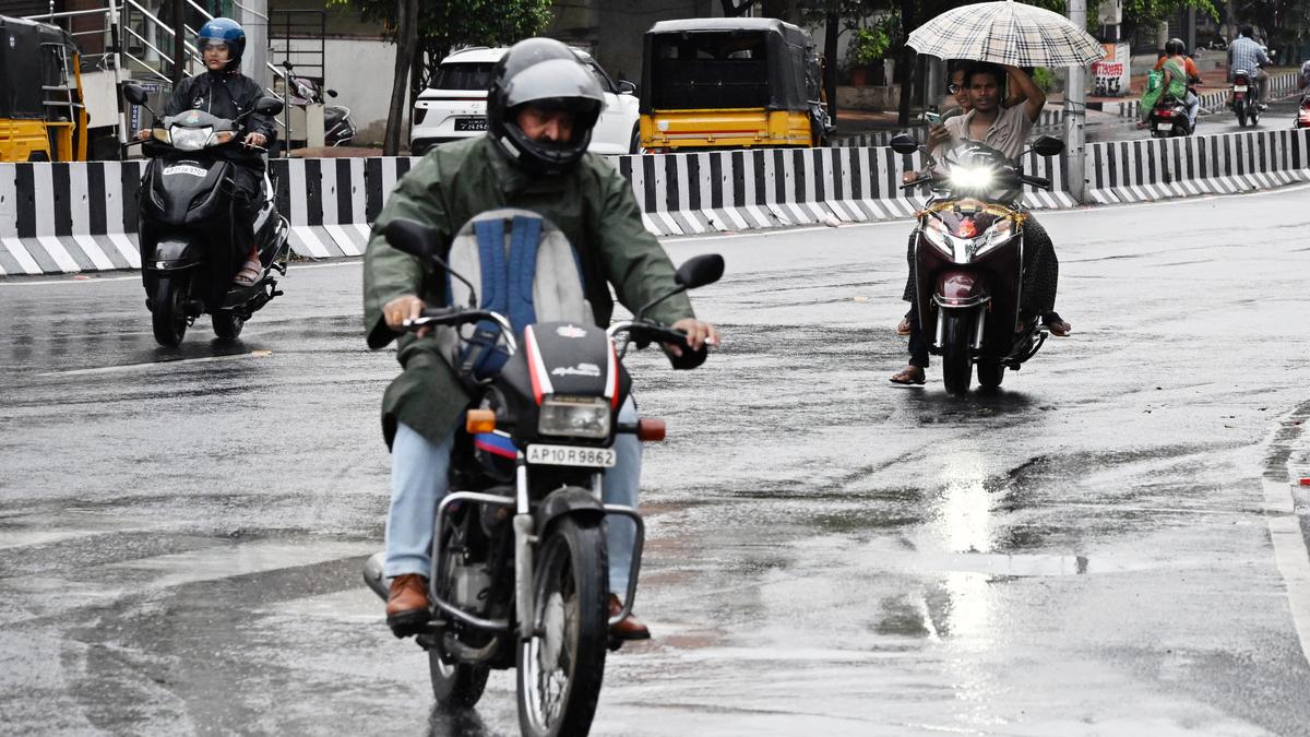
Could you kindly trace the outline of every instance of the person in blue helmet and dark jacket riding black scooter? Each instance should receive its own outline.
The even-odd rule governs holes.
[[[237,239],[234,245],[249,249],[245,264],[232,281],[236,285],[250,286],[259,279],[263,270],[254,240],[254,220],[259,214],[266,165],[259,151],[249,147],[267,146],[276,138],[278,131],[272,119],[254,111],[254,104],[263,97],[263,89],[259,83],[241,73],[245,41],[245,30],[231,18],[214,18],[200,26],[196,45],[200,47],[206,72],[182,80],[160,115],[172,117],[186,110],[204,110],[219,118],[242,123],[246,131],[241,140],[242,146],[233,144],[224,151],[224,156],[233,164],[233,202],[237,210],[233,218],[233,232]],[[138,134],[143,140],[149,136],[148,129]]]

